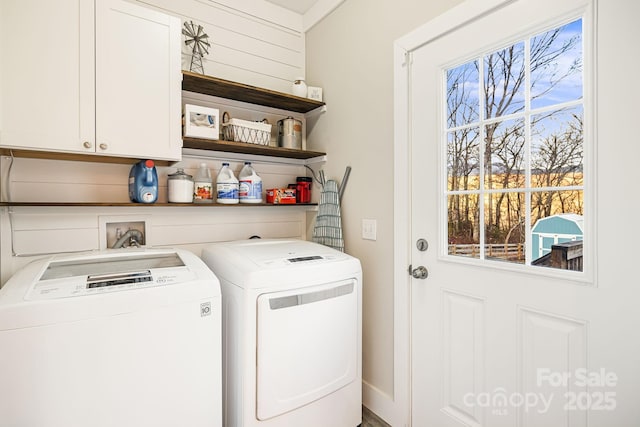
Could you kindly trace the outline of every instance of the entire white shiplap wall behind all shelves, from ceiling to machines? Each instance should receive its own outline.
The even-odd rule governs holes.
[[[262,0],[131,1],[203,25],[212,44],[203,61],[205,74],[281,92],[289,92],[292,80],[304,76],[305,42],[299,15]],[[183,53],[183,68],[188,69],[190,56],[184,45]],[[183,102],[230,109],[232,116],[247,120],[260,116],[276,123],[288,115],[242,103],[220,104],[215,98],[186,92],[183,97]],[[232,168],[239,172],[242,159],[223,153],[215,158],[188,155],[180,163],[158,167],[159,202],[166,202],[166,178],[177,167],[193,175],[199,163],[205,162],[215,176],[223,159],[231,160]],[[252,160],[264,188],[286,186],[307,172],[301,165]],[[112,163],[2,156],[2,200],[128,202],[130,168],[131,165]],[[305,239],[307,215],[302,207],[0,207],[0,285],[34,258],[100,249],[105,218],[142,218],[147,227],[147,245],[182,247],[199,255],[208,243],[252,235]]]

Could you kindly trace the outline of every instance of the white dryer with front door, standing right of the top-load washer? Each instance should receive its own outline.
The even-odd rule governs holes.
[[[223,299],[225,427],[355,427],[362,418],[362,270],[301,240],[203,249]]]

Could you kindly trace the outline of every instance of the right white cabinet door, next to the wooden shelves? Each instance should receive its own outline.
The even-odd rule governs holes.
[[[122,0],[96,3],[99,154],[181,158],[180,19]]]

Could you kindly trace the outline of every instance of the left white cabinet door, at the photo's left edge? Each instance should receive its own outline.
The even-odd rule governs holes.
[[[86,0],[0,1],[0,145],[94,151],[93,15]]]

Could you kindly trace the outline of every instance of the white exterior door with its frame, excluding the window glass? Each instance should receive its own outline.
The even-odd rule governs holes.
[[[632,18],[640,8],[631,1],[590,3],[470,1],[454,9],[449,21],[445,16],[404,40],[410,52],[404,65],[406,121],[401,117],[399,123],[406,125],[410,154],[407,264],[416,276],[419,266],[428,271],[426,278],[408,279],[414,427],[640,423],[640,290],[632,270],[638,233],[625,233],[620,217],[638,208],[623,187],[637,181],[631,171],[640,152],[638,144],[624,142],[624,128],[637,120],[640,93],[628,86],[624,70],[635,72],[640,61],[622,46],[640,39]],[[465,16],[469,20],[459,26]],[[443,70],[575,17],[584,19],[585,122],[592,121],[584,144],[585,171],[591,174],[584,185],[585,204],[591,204],[585,208],[584,270],[572,274],[450,255]],[[593,22],[598,32],[592,34]],[[592,36],[595,69],[589,65],[595,58]],[[594,76],[597,84],[590,86]],[[481,203],[490,197],[481,195]],[[421,238],[426,250],[417,244]]]

